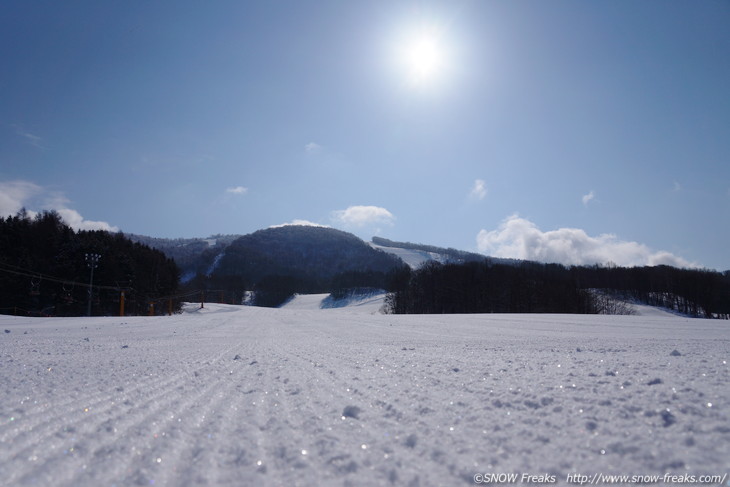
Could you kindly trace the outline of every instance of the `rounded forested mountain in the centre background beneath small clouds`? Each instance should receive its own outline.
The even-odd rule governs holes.
[[[236,303],[251,290],[256,291],[256,304],[275,306],[294,293],[384,288],[387,273],[403,265],[355,235],[328,227],[286,225],[248,235],[130,238],[175,259],[186,291],[215,291],[219,299]]]

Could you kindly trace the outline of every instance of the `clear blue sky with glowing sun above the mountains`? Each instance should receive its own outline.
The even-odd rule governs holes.
[[[5,1],[0,212],[729,269],[728,26],[719,0]]]

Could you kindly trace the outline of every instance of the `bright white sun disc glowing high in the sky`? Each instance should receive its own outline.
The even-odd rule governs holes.
[[[445,52],[436,32],[423,30],[403,42],[401,64],[408,80],[416,85],[433,82],[444,68]]]

